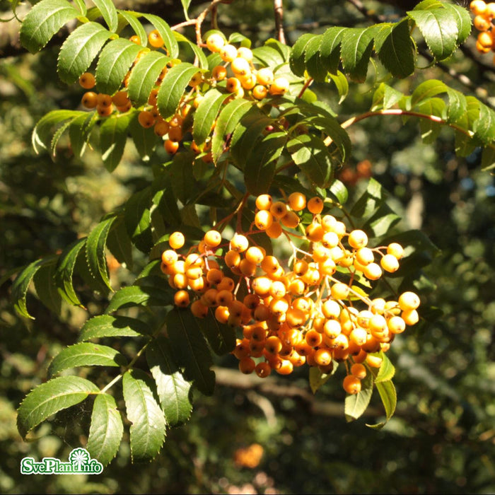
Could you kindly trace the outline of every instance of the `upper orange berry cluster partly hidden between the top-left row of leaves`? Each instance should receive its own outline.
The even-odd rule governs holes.
[[[136,35],[130,37],[129,40],[140,45],[139,37]],[[158,30],[153,30],[149,33],[148,45],[153,50],[165,50],[163,39]],[[190,91],[182,99],[175,115],[168,119],[161,117],[157,107],[157,95],[168,69],[179,63],[178,60],[170,60],[163,67],[149,95],[147,105],[144,105],[139,110],[139,124],[146,129],[153,127],[156,135],[163,138],[163,146],[169,154],[177,152],[185,134],[190,132],[192,120],[186,119],[186,117],[199,106],[204,98],[204,93],[210,88],[221,88],[227,93],[232,93],[232,98],[249,98],[252,100],[262,100],[267,95],[283,95],[289,90],[287,78],[283,76],[275,77],[273,71],[267,67],[255,68],[253,54],[249,48],[235,47],[228,44],[223,36],[218,33],[209,35],[204,46],[212,53],[218,53],[222,64],[215,66],[211,71],[198,70],[197,74],[192,76],[189,83]],[[133,66],[139,61],[144,52],[145,50],[139,52]],[[108,117],[115,109],[119,112],[131,110],[132,103],[127,95],[131,72],[132,68],[124,78],[122,88],[115,95],[87,91],[81,100],[83,107],[88,108],[88,110],[95,109],[100,117]],[[86,72],[79,78],[79,83],[83,88],[93,90],[95,76],[91,72]],[[211,147],[209,139],[202,146],[197,146],[192,141],[190,147],[195,153],[202,153],[201,158],[206,163],[212,161],[211,153],[209,153],[209,148]]]

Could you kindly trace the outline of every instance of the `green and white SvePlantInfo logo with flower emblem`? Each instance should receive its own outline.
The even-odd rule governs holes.
[[[69,454],[69,462],[57,458],[42,458],[40,462],[33,458],[21,460],[21,474],[100,474],[103,464],[91,459],[86,448],[74,448]]]

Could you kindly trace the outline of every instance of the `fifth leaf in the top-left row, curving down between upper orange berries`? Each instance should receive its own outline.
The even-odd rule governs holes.
[[[185,88],[198,70],[188,62],[182,62],[168,70],[157,96],[158,110],[164,119],[175,114]]]

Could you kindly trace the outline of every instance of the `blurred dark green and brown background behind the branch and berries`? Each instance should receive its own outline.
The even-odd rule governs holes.
[[[416,2],[363,1],[368,16],[395,21]],[[396,4],[396,5],[394,5]],[[162,15],[171,25],[183,20],[179,0],[126,0],[118,5]],[[193,0],[194,17],[206,4]],[[359,1],[284,1],[289,44],[303,33],[330,25],[366,25]],[[18,6],[22,16],[23,4]],[[361,9],[362,10],[362,9]],[[10,2],[0,1],[1,18],[11,18]],[[274,37],[269,0],[234,0],[219,6],[219,27],[238,31],[259,45]],[[206,24],[205,24],[206,28]],[[70,27],[69,27],[70,29]],[[433,144],[421,141],[417,122],[398,117],[363,120],[349,129],[354,154],[337,177],[351,197],[374,177],[390,192],[390,206],[402,216],[401,228],[419,228],[438,247],[424,268],[426,320],[401,334],[390,350],[395,364],[398,403],[395,417],[380,431],[378,397],[365,417],[347,424],[340,380],[329,380],[313,397],[307,368],[267,381],[240,375],[232,356],[217,362],[212,397],[194,396],[189,424],[168,432],[161,455],[146,465],[130,465],[128,443],[98,476],[23,476],[21,458],[30,455],[66,460],[85,445],[89,414],[84,403],[57,414],[23,442],[16,429],[16,408],[47,378],[50,359],[76,340],[88,318],[80,308],[50,313],[28,297],[35,320],[18,318],[9,301],[11,274],[38,257],[62,250],[86,235],[100,217],[139,190],[151,175],[132,144],[124,161],[108,173],[89,149],[75,159],[60,144],[52,160],[36,155],[30,135],[37,120],[56,108],[76,108],[83,91],[67,88],[55,76],[57,36],[52,48],[26,54],[16,38],[18,22],[0,25],[0,491],[14,493],[245,493],[342,494],[495,492],[495,181],[480,170],[480,153],[457,158],[453,132],[445,129]],[[451,75],[429,67],[407,81],[386,81],[404,93],[421,81],[445,83],[480,97],[493,95],[492,54],[479,55],[471,35],[448,61]],[[465,74],[468,86],[455,74]],[[313,91],[342,120],[371,106],[371,84],[380,78],[370,67],[368,83],[352,84],[338,105],[334,88]],[[488,99],[492,106],[495,98]],[[132,280],[117,263],[110,272],[117,284]],[[91,293],[91,315],[105,307]],[[252,380],[251,380],[252,378]],[[375,394],[376,395],[376,394]],[[74,422],[71,415],[77,412]],[[87,413],[87,412],[86,412]],[[69,419],[70,418],[70,419]]]

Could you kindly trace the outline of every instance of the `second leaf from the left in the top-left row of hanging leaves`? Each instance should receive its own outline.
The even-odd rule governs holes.
[[[112,35],[98,23],[85,23],[64,41],[59,52],[57,71],[66,84],[74,84],[98,55]]]

